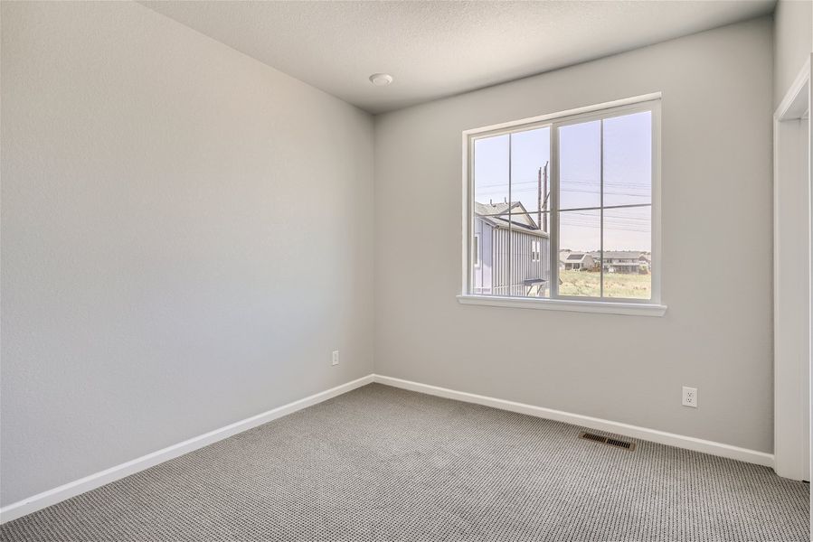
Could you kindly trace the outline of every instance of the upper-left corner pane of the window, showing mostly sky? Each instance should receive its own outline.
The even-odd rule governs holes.
[[[508,208],[509,135],[474,142],[474,201],[478,214],[501,214]]]

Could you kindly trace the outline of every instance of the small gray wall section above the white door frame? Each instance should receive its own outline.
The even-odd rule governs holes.
[[[777,107],[813,52],[813,2],[780,0],[773,19],[773,107]]]

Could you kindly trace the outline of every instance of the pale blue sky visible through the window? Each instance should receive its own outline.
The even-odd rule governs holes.
[[[604,210],[604,249],[651,251],[651,113],[612,117],[603,122],[604,205],[647,204]],[[600,123],[597,120],[559,128],[561,249],[598,250],[601,245],[600,211],[583,209],[600,206]],[[536,220],[538,171],[548,164],[550,178],[550,158],[550,126],[477,139],[476,201],[507,201],[510,168],[511,200],[522,202],[526,210],[534,212]]]

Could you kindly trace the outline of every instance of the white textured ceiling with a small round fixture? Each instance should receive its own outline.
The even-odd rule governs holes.
[[[769,14],[775,3],[142,2],[371,113]],[[373,87],[379,71],[395,82]]]

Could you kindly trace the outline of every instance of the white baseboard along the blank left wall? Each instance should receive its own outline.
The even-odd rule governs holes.
[[[307,408],[307,406],[316,405],[317,403],[321,403],[322,401],[326,401],[332,397],[342,395],[343,393],[346,393],[352,389],[360,388],[372,382],[373,375],[357,378],[351,382],[342,384],[341,386],[336,386],[336,388],[326,389],[325,391],[319,392],[310,397],[305,397],[299,399],[298,401],[288,403],[287,405],[272,408],[271,410],[258,414],[257,416],[251,416],[239,422],[221,427],[220,429],[210,431],[204,435],[195,436],[189,440],[185,440],[182,443],[173,444],[172,446],[168,446],[163,450],[147,453],[147,455],[142,455],[141,457],[128,461],[127,463],[121,463],[104,471],[90,474],[89,476],[85,476],[84,478],[80,478],[76,481],[71,481],[57,488],[53,488],[52,490],[43,491],[42,493],[33,495],[33,497],[29,497],[28,499],[18,500],[17,502],[9,504],[8,506],[0,509],[0,524],[5,523],[6,521],[11,521],[12,519],[20,518],[26,514],[35,512],[36,510],[51,506],[52,504],[56,504],[61,500],[70,499],[71,497],[84,493],[85,491],[96,489],[110,483],[111,481],[120,480],[126,476],[129,476],[130,474],[143,471],[158,463],[164,463],[165,461],[174,457],[184,455],[184,453],[193,452],[198,448],[203,448],[203,446],[215,443],[226,437],[237,435],[238,433],[242,433],[243,431],[256,427],[257,425],[262,425],[279,417],[287,416],[288,414],[303,408]]]

